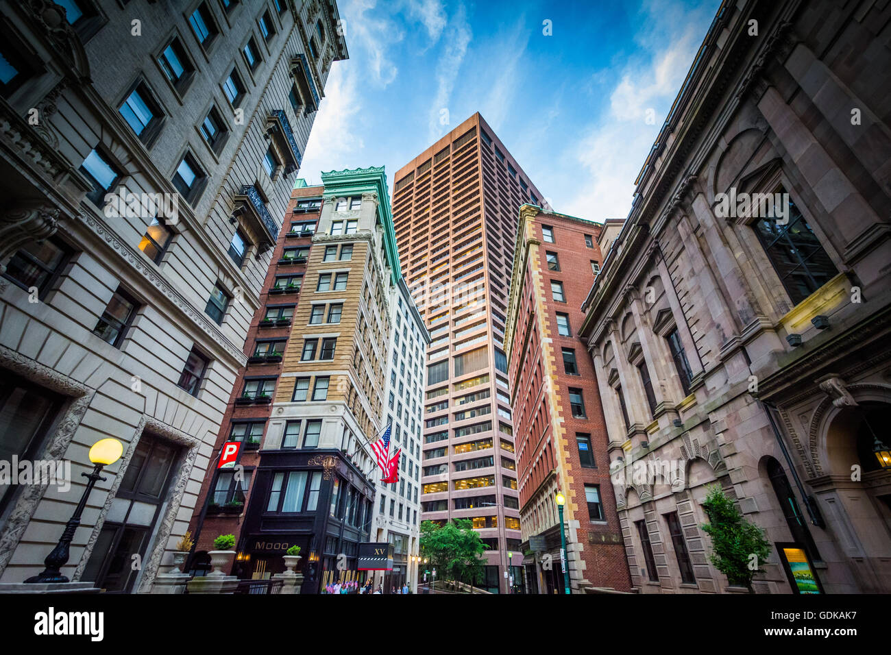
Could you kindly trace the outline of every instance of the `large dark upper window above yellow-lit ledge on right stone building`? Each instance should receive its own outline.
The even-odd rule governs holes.
[[[785,189],[780,187],[777,192],[784,193]],[[838,274],[832,259],[791,198],[786,225],[780,225],[775,218],[762,218],[753,228],[793,305]]]

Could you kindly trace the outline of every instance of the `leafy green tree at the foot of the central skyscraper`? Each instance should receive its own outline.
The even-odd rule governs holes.
[[[455,519],[443,526],[421,522],[421,557],[429,559],[441,579],[478,584],[486,547],[469,519]]]

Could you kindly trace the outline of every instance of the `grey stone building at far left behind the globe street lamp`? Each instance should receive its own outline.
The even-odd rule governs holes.
[[[69,489],[0,487],[0,583],[43,571],[116,438],[61,573],[151,590],[347,57],[333,2],[184,7],[0,4],[0,459],[71,463]]]

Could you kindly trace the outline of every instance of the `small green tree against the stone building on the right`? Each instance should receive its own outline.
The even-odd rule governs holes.
[[[708,489],[702,506],[709,520],[702,529],[712,538],[709,561],[727,576],[731,585],[745,586],[751,591],[752,578],[771,552],[764,530],[745,519],[719,485]]]

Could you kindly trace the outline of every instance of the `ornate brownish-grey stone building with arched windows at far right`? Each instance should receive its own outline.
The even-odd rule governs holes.
[[[891,591],[889,18],[723,3],[637,179],[581,335],[640,592],[734,590],[710,484],[766,530],[757,592]]]

